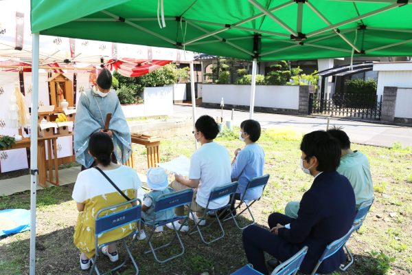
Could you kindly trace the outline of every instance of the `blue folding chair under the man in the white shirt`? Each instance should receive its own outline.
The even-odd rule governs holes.
[[[210,243],[213,243],[214,241],[218,241],[219,239],[222,239],[222,238],[225,236],[225,230],[223,229],[222,223],[220,222],[219,215],[218,215],[218,210],[225,210],[225,209],[230,208],[231,202],[232,202],[232,200],[234,199],[234,196],[231,196],[231,197],[230,197],[231,199],[229,199],[229,203],[225,204],[225,206],[222,206],[222,207],[220,207],[220,208],[209,209],[209,203],[210,203],[211,201],[214,201],[214,200],[216,200],[216,199],[220,199],[220,198],[222,198],[222,197],[227,197],[227,196],[230,196],[230,195],[234,195],[234,194],[236,193],[236,189],[237,189],[237,188],[238,188],[238,181],[234,181],[234,182],[231,182],[230,184],[226,184],[226,185],[224,185],[224,186],[219,186],[219,187],[214,188],[214,190],[212,190],[212,191],[210,192],[209,199],[208,199],[208,201],[207,201],[207,205],[206,205],[205,211],[203,212],[202,217],[198,218],[199,221],[198,221],[197,223],[196,223],[196,219],[194,219],[194,215],[195,215],[196,213],[192,212],[192,210],[189,210],[189,213],[192,214],[193,220],[195,221],[195,225],[194,225],[194,228],[192,228],[192,229],[188,232],[188,234],[194,234],[194,233],[198,232],[199,235],[201,236],[201,240],[203,241],[203,243],[206,243],[207,245],[210,244]],[[205,232],[205,230],[207,230],[207,228],[210,228],[210,226],[211,226],[215,221],[217,221],[217,222],[218,222],[218,225],[219,225],[219,227],[220,227],[220,232],[221,232],[221,234],[220,234],[220,236],[216,236],[216,238],[213,238],[213,236],[211,236],[210,241],[206,241],[206,240],[205,240],[205,237],[203,236],[202,230],[201,230],[201,228],[200,228],[200,226],[199,226],[199,223],[201,223],[202,219],[205,219],[207,213],[210,213],[210,212],[214,212],[214,214],[215,214],[215,219],[214,219],[214,221],[212,221],[211,223],[209,223],[207,226],[203,226],[203,232]],[[223,212],[224,212],[224,211],[223,211]],[[224,213],[222,213],[221,215],[223,215],[223,214],[224,214]],[[231,213],[230,213],[230,214],[231,214]],[[194,229],[196,229],[196,231],[194,231]]]

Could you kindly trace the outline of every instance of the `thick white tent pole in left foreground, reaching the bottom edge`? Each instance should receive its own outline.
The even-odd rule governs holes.
[[[39,34],[32,36],[32,135],[30,136],[30,275],[36,273],[36,188],[37,188],[37,107],[38,107],[38,40]]]

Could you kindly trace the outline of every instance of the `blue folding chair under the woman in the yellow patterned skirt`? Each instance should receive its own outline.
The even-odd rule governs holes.
[[[115,212],[113,214],[102,214],[103,212],[117,208],[120,206],[124,206],[126,204],[130,204],[133,202],[139,202],[137,206],[133,206],[131,208],[127,208],[125,210]],[[133,256],[130,252],[130,248],[126,244],[126,238],[128,236],[133,236],[134,234],[140,234],[140,220],[141,220],[141,201],[139,199],[131,199],[130,201],[125,201],[124,203],[119,203],[115,206],[108,206],[106,208],[102,208],[98,211],[96,214],[95,218],[95,257],[94,259],[91,259],[92,267],[90,269],[89,274],[93,274],[93,271],[96,272],[96,274],[100,274],[99,269],[98,269],[98,256],[99,256],[99,249],[102,248],[105,245],[108,245],[110,243],[114,243],[117,241],[122,241],[124,248],[126,249],[126,252],[130,258],[130,260],[133,263],[133,266],[135,267],[136,274],[139,274],[139,267],[137,267],[137,264],[135,262],[135,259],[133,259]],[[130,223],[137,223],[137,230],[131,232],[128,234],[128,236],[124,236],[124,238],[110,242],[110,243],[98,243],[98,236],[100,234],[110,232],[111,230],[114,230],[116,228],[122,227],[124,225],[129,226]],[[115,270],[118,270],[119,268],[123,267],[124,264],[126,263],[128,259],[126,258],[123,263],[117,265],[117,267],[108,270],[108,272],[104,272],[103,274],[107,274],[111,272],[114,272]]]

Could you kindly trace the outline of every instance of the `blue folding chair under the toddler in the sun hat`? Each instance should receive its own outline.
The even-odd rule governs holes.
[[[190,208],[190,204],[192,203],[192,197],[193,197],[193,189],[186,189],[186,190],[181,190],[181,191],[172,192],[172,193],[168,193],[168,194],[163,194],[163,195],[161,195],[157,198],[154,214],[156,216],[160,212],[165,212],[166,210],[169,210],[170,208],[176,208],[178,206],[188,205],[189,208]],[[148,241],[147,241],[147,244],[149,245],[150,250],[147,250],[144,253],[147,254],[149,252],[152,252],[153,256],[155,256],[155,260],[158,263],[165,263],[165,262],[168,262],[168,261],[170,261],[170,260],[172,260],[176,257],[179,257],[179,256],[183,255],[183,253],[185,253],[185,246],[183,245],[181,237],[179,236],[180,228],[175,228],[174,221],[178,221],[178,220],[181,220],[181,219],[183,219],[184,221],[187,221],[188,218],[189,218],[189,213],[187,213],[183,216],[175,216],[172,219],[168,219],[168,220],[155,221],[154,223],[145,223],[145,221],[143,221],[145,223],[145,225],[147,225],[148,227],[151,228],[150,233],[148,233]],[[174,228],[174,232],[175,232],[176,235],[174,236],[174,238],[169,243],[166,243],[165,245],[161,245],[161,246],[155,248],[152,244],[152,237],[155,234],[155,229],[158,226],[165,225],[166,223],[172,223],[173,228]],[[185,223],[183,222],[181,224],[181,226],[183,226],[183,224],[185,224]],[[174,255],[172,255],[172,256],[164,259],[164,260],[159,260],[159,257],[157,256],[156,252],[159,251],[159,250],[163,250],[165,248],[168,248],[170,245],[172,245],[173,241],[176,238],[179,241],[179,244],[181,246],[181,252],[179,254],[174,254]],[[146,245],[146,247],[147,247],[147,245]]]

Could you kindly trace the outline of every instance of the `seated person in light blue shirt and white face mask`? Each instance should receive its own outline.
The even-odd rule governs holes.
[[[240,124],[239,139],[245,144],[235,151],[232,161],[231,179],[237,180],[236,199],[241,199],[247,184],[254,177],[263,175],[264,151],[256,142],[260,137],[260,124],[255,120],[244,120]],[[247,190],[244,200],[251,201],[262,195],[263,186]]]

